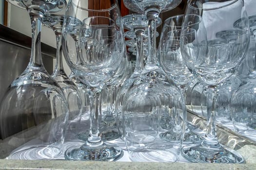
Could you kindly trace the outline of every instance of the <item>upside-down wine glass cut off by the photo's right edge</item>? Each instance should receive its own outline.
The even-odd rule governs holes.
[[[249,74],[245,76],[246,83],[241,85],[232,97],[231,115],[235,131],[250,138],[256,138],[255,114],[255,83],[256,83],[256,15],[249,16],[251,41],[246,58]],[[241,27],[241,19],[234,23]]]

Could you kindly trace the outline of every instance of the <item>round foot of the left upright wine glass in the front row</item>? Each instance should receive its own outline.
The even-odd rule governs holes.
[[[67,160],[82,161],[114,161],[123,155],[122,149],[117,145],[103,143],[98,147],[89,147],[85,144],[70,147],[64,153]]]

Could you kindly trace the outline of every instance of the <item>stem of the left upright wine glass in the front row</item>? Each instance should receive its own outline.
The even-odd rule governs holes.
[[[90,95],[90,134],[87,139],[86,145],[90,147],[97,147],[102,145],[103,142],[99,136],[99,119],[101,115],[100,109],[100,93],[97,89],[92,89]]]

